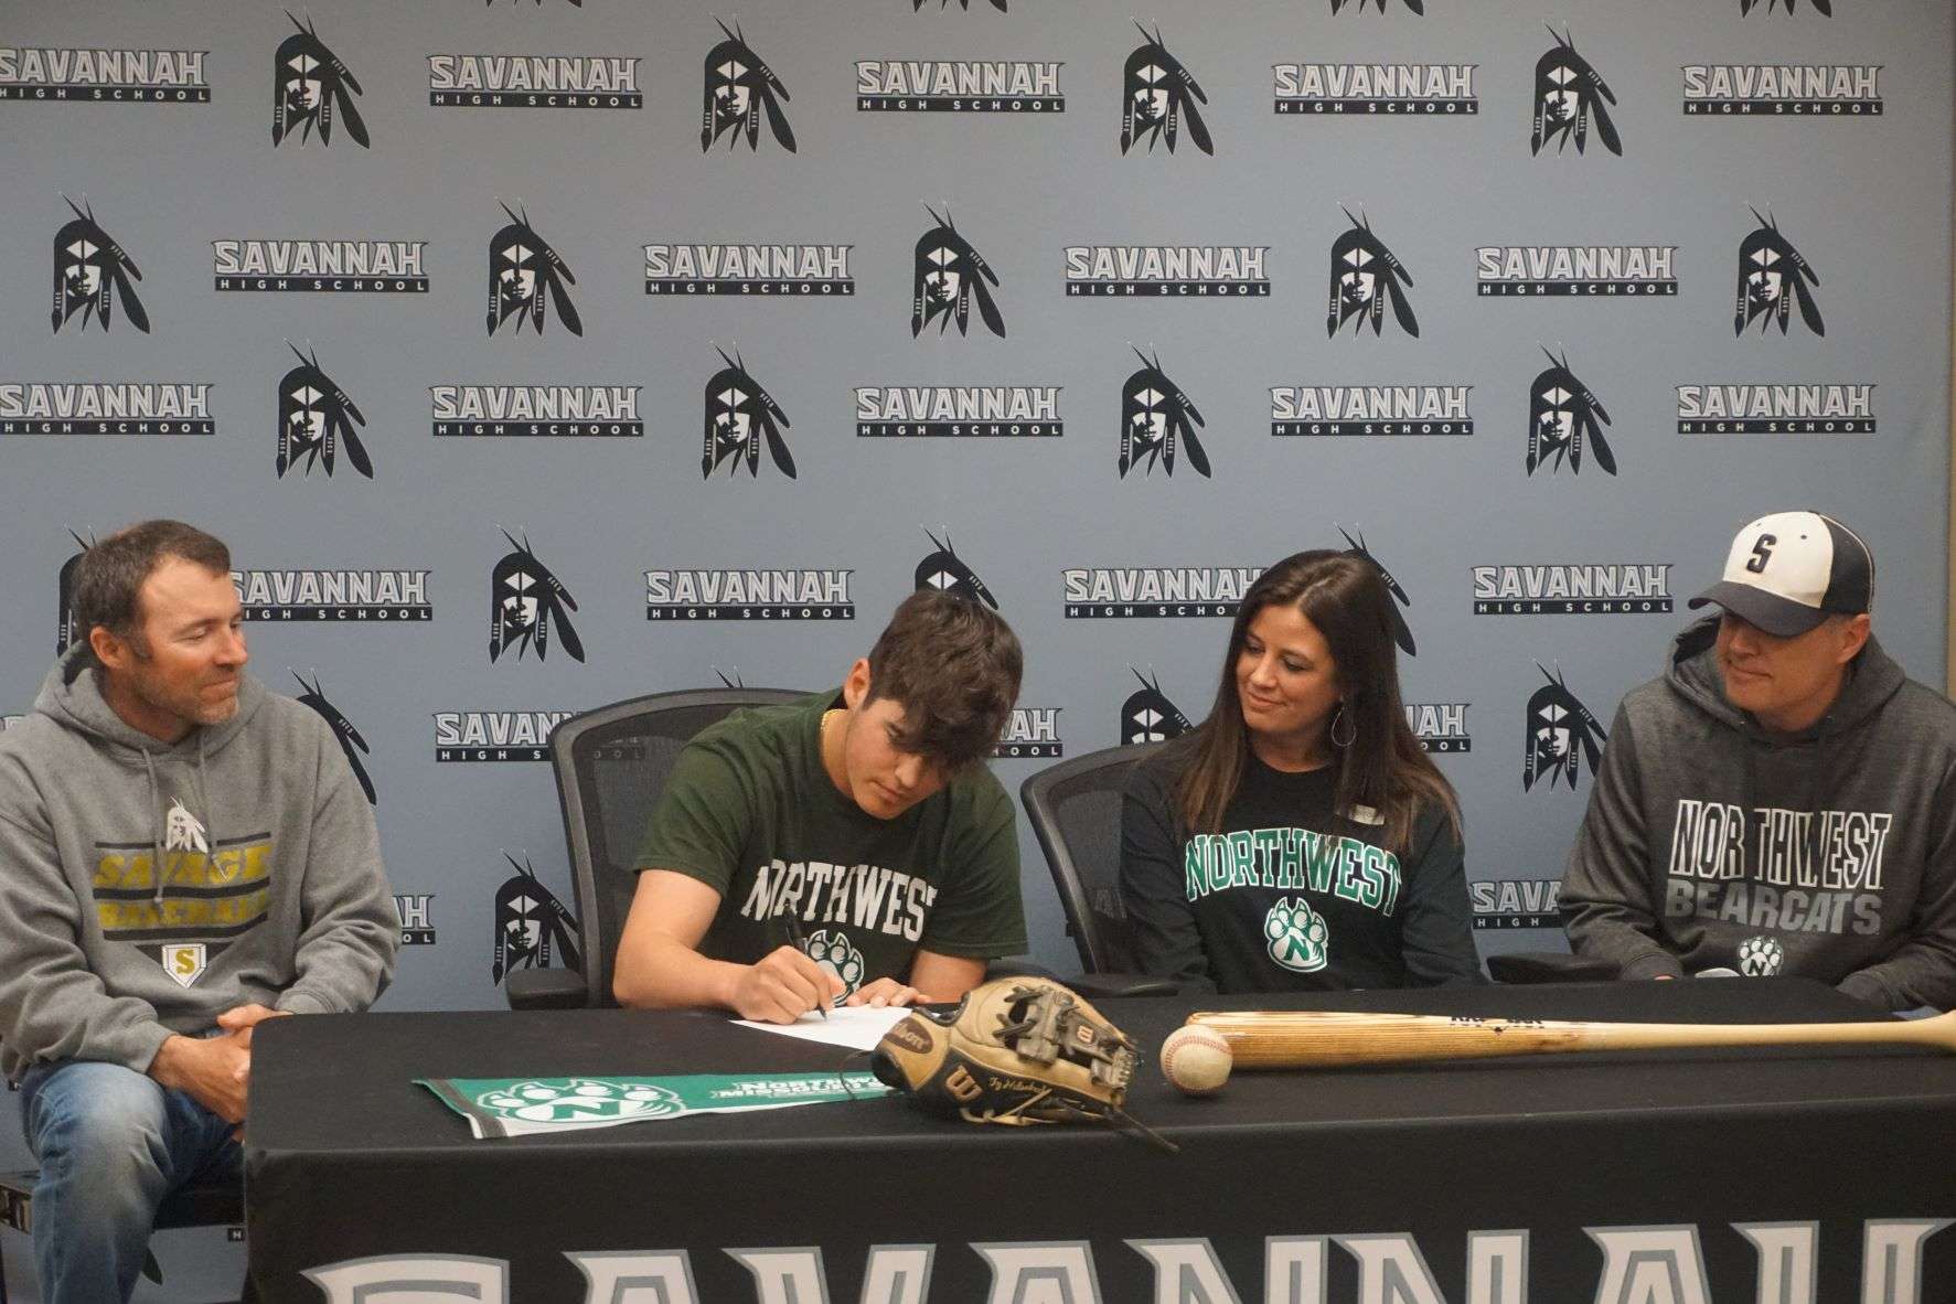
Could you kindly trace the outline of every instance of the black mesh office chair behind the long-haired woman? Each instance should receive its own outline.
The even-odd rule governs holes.
[[[1019,786],[1039,850],[1066,911],[1088,995],[1174,995],[1176,983],[1142,978],[1121,905],[1121,788],[1160,743],[1109,747],[1062,761]]]

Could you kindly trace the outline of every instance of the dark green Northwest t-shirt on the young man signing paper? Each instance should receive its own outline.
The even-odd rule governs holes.
[[[822,766],[822,714],[837,704],[822,692],[734,712],[679,755],[634,866],[720,893],[700,954],[753,964],[788,940],[790,911],[849,991],[908,978],[919,948],[1025,952],[1005,790],[972,766],[896,819],[865,813]]]

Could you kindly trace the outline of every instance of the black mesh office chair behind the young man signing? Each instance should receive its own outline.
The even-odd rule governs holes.
[[[612,956],[638,890],[632,854],[679,751],[737,708],[804,696],[790,688],[655,692],[571,716],[550,731],[550,762],[571,848],[583,974],[514,970],[503,987],[511,1009],[616,1009]]]

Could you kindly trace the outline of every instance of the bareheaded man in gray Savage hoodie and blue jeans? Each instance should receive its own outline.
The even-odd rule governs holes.
[[[223,543],[80,559],[82,637],[0,735],[0,1069],[43,1298],[127,1300],[170,1191],[237,1173],[252,1028],[366,1009],[399,923],[331,727],[244,674]]]

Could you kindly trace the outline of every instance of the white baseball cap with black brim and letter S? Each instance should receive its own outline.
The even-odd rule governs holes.
[[[1874,553],[1833,516],[1760,516],[1731,542],[1725,577],[1690,606],[1708,602],[1766,633],[1794,637],[1827,616],[1858,616],[1874,606]]]

